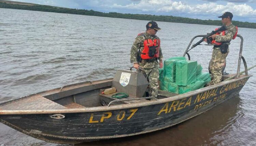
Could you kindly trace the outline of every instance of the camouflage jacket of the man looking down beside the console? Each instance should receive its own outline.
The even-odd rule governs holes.
[[[146,36],[146,38],[145,38]],[[144,33],[144,35],[138,35],[134,42],[133,42],[133,45],[131,47],[131,53],[130,53],[130,60],[131,60],[131,63],[139,63],[140,67],[141,68],[145,68],[145,69],[151,69],[151,68],[155,68],[158,66],[158,61],[154,61],[154,62],[145,62],[145,63],[142,63],[142,62],[138,62],[137,61],[137,55],[140,55],[138,54],[138,52],[142,52],[142,50],[144,49],[143,47],[143,42],[145,39],[159,39],[159,37],[157,37],[156,35],[149,35],[148,33]],[[163,59],[163,55],[162,55],[162,50],[161,50],[161,47],[159,49],[159,57],[158,57],[159,60],[162,60]]]

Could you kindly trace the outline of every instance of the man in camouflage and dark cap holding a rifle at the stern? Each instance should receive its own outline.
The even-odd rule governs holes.
[[[210,61],[210,71],[211,71],[211,81],[210,84],[217,84],[221,82],[222,79],[222,70],[226,62],[226,57],[229,53],[230,41],[233,36],[236,34],[236,26],[232,24],[233,15],[230,12],[225,12],[222,16],[222,23],[227,26],[225,35],[212,35],[211,37],[215,39],[216,42],[222,42],[222,45],[214,45],[212,52],[212,59]],[[223,48],[221,48],[223,47]],[[225,48],[226,47],[226,48]]]

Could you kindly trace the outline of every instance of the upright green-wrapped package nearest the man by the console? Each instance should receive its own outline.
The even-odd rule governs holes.
[[[175,82],[175,69],[176,62],[180,60],[186,60],[185,57],[172,57],[163,62],[164,67],[164,81]]]

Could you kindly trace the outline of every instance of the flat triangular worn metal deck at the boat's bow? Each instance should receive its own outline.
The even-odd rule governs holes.
[[[1,110],[55,110],[67,109],[39,94],[22,98],[9,104],[0,106]]]

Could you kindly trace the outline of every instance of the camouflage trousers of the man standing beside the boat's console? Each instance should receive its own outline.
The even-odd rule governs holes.
[[[155,67],[153,69],[144,69],[141,68],[144,76],[148,79],[149,81],[149,96],[157,98],[158,96],[158,78],[159,78],[159,67]]]

